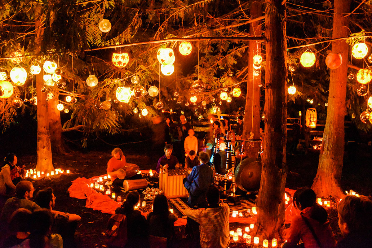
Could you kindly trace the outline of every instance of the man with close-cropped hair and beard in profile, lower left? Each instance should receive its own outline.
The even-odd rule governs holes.
[[[1,212],[0,222],[7,222],[14,211],[19,208],[25,208],[31,212],[39,209],[39,205],[33,202],[32,196],[35,191],[30,181],[20,181],[16,185],[16,196],[9,198]]]

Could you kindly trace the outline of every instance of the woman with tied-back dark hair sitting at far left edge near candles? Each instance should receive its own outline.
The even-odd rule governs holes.
[[[0,172],[0,195],[6,195],[11,189],[16,189],[15,185],[19,183],[21,176],[25,173],[23,167],[16,166],[17,162],[18,159],[14,153],[8,153],[4,158]]]

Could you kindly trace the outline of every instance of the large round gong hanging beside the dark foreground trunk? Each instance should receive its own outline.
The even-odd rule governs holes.
[[[260,189],[262,162],[259,159],[246,158],[235,168],[235,183],[239,189],[254,191]]]

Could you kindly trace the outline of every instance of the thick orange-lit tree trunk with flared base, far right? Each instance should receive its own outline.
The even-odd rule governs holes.
[[[333,10],[333,38],[349,35],[349,18],[342,13],[350,11],[350,0],[335,0]],[[340,13],[340,14],[337,14]],[[345,40],[332,42],[332,53],[340,53],[343,57],[339,68],[331,70],[328,95],[327,120],[320,150],[318,172],[312,189],[317,196],[333,196],[342,198],[343,192],[339,186],[343,166],[344,136],[346,114],[346,77],[349,45]]]

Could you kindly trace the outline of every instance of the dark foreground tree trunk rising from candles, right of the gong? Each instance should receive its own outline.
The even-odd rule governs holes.
[[[286,164],[286,6],[282,0],[266,0],[265,138],[262,174],[257,198],[257,234],[282,236]]]

